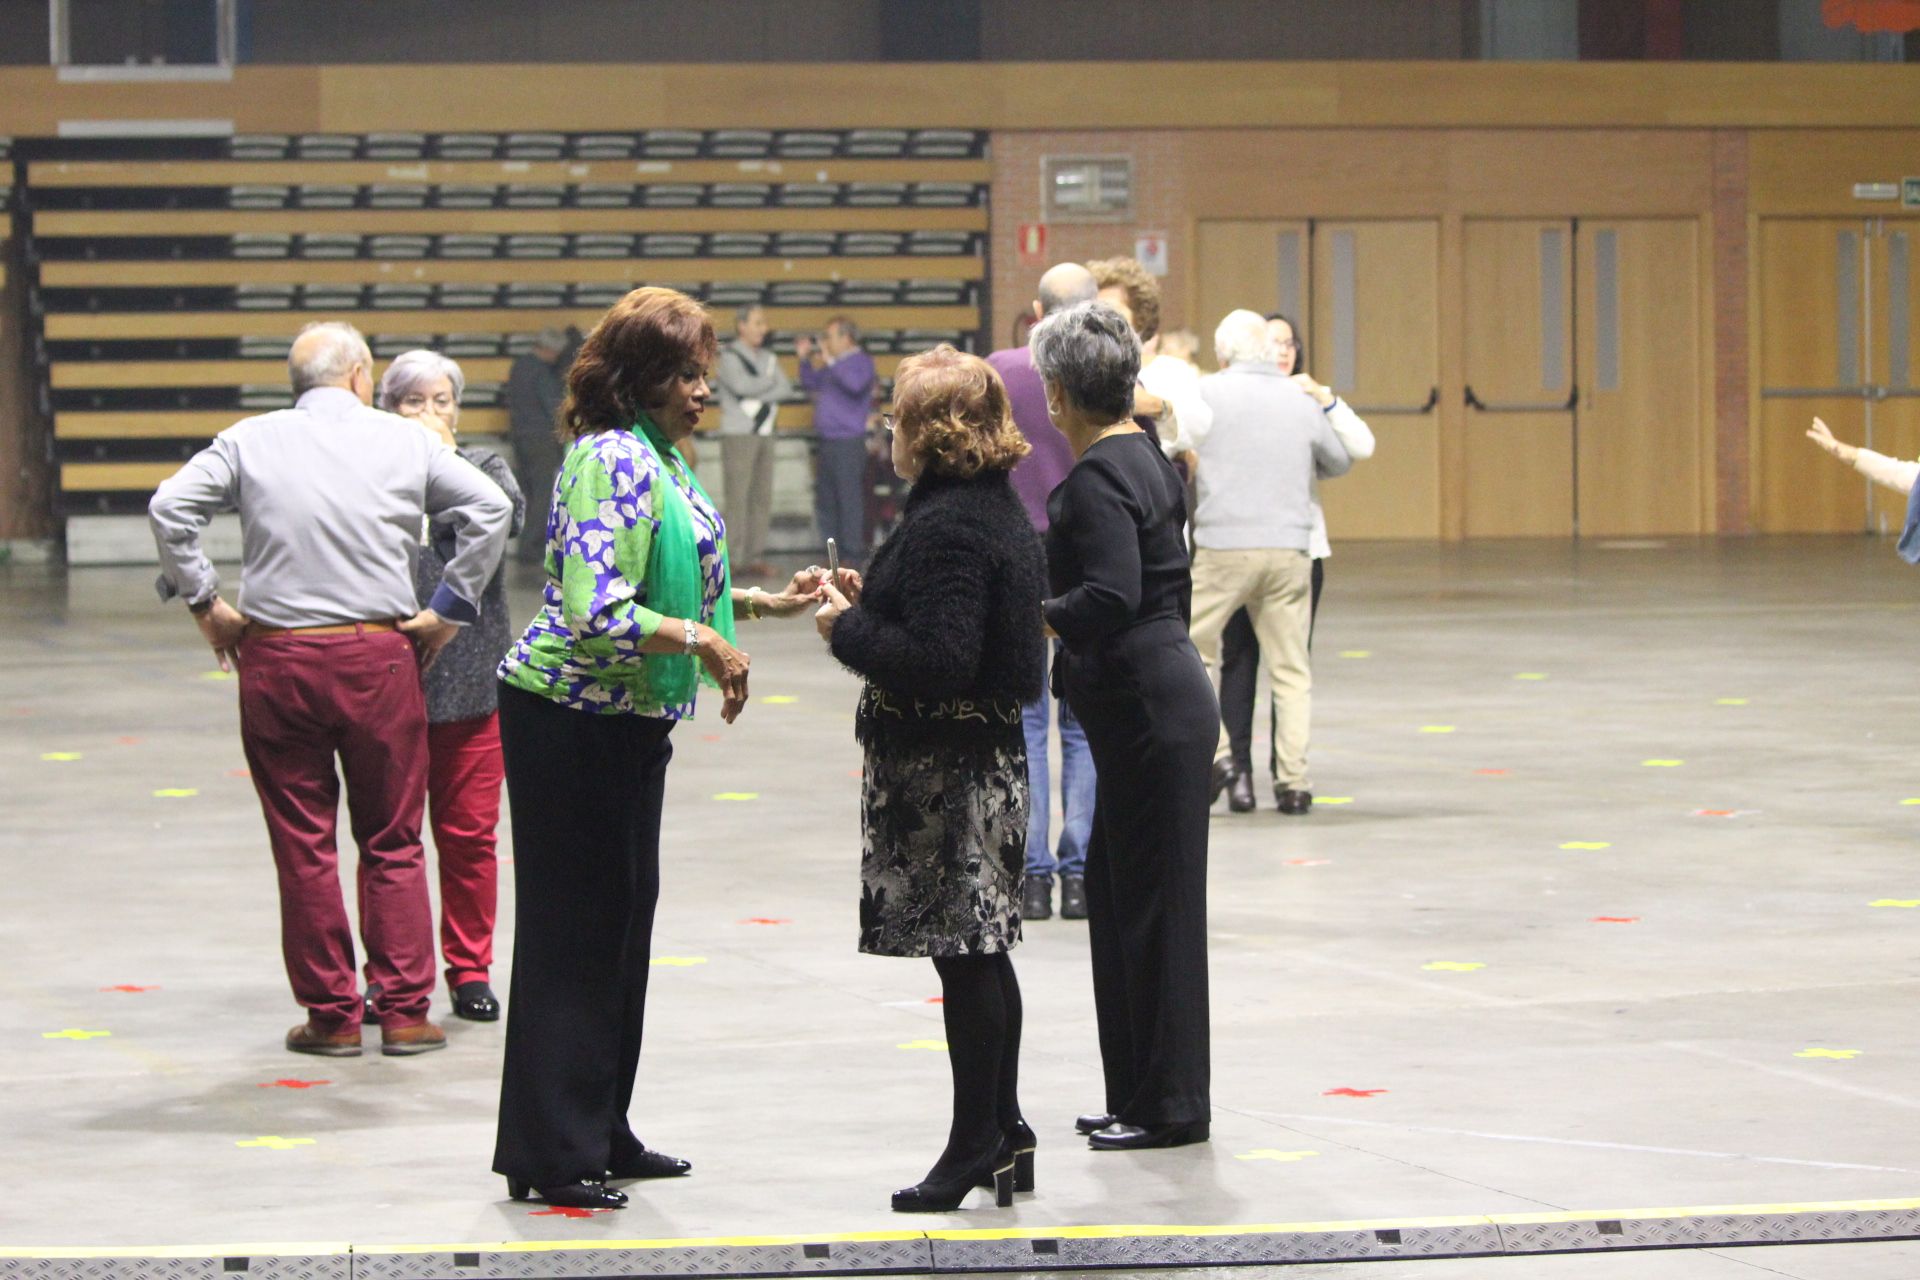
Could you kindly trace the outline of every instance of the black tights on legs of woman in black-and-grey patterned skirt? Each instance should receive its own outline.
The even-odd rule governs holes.
[[[954,1073],[954,1123],[927,1180],[954,1178],[998,1151],[1020,1119],[1020,979],[1014,958],[935,956],[947,1059]]]

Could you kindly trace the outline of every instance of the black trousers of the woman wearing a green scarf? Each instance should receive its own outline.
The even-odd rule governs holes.
[[[493,1171],[553,1186],[645,1148],[628,1126],[647,1015],[670,720],[595,716],[513,687],[513,988]]]

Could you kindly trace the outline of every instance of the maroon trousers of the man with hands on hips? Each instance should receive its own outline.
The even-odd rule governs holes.
[[[426,1017],[434,919],[420,852],[426,700],[397,631],[263,635],[240,649],[240,743],[280,875],[294,998],[326,1032],[361,1025],[334,833],[340,775],[359,844],[359,925],[382,1027]],[[340,773],[334,773],[334,756]]]

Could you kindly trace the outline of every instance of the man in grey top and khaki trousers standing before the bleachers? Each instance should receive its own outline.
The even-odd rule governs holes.
[[[758,303],[733,317],[733,342],[720,349],[720,468],[726,484],[726,533],[735,572],[766,578],[766,530],[774,514],[774,420],[793,384],[766,349],[766,311]]]

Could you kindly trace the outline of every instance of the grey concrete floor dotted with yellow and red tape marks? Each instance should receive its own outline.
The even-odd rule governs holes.
[[[1288,819],[1261,794],[1213,821],[1213,1142],[1073,1140],[1098,1102],[1085,929],[1035,923],[1016,963],[1041,1190],[943,1219],[887,1209],[945,1136],[937,984],[854,952],[856,685],[808,620],[743,624],[755,704],[676,731],[636,1126],[697,1173],[572,1221],[488,1173],[497,1027],[447,1019],[453,1046],[419,1059],[280,1048],[300,1009],[234,683],[150,581],[0,568],[0,1245],[1920,1194],[1920,576],[1884,541],[1342,545],[1315,641],[1321,806]],[[515,612],[530,599],[516,585]],[[240,1146],[263,1136],[303,1142]],[[1920,1247],[1354,1270],[1755,1268],[1907,1276]]]

